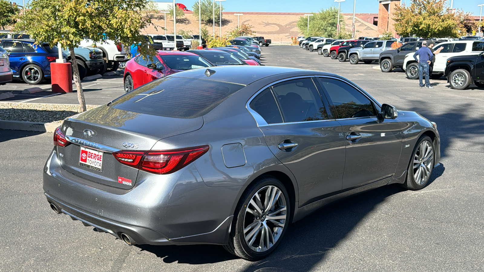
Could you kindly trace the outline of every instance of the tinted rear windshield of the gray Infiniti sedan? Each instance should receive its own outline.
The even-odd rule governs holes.
[[[171,118],[197,118],[243,87],[227,82],[166,76],[122,95],[111,106]]]

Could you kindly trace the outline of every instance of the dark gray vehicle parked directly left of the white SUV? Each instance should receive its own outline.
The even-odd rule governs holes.
[[[422,42],[423,41],[408,42],[397,49],[381,52],[380,57],[378,58],[381,72],[388,73],[392,71],[393,68],[402,68],[405,56],[422,47]],[[427,41],[427,43],[429,42],[432,41]]]

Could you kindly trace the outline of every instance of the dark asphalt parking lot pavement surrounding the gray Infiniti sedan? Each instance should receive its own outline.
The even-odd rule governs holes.
[[[382,73],[375,63],[340,63],[299,46],[264,47],[262,54],[265,65],[335,73],[380,103],[436,121],[442,165],[428,186],[389,185],[327,206],[291,224],[272,256],[257,262],[217,245],[128,247],[48,207],[42,170],[52,134],[0,130],[0,272],[484,271],[484,90],[453,90],[443,78],[431,80],[435,89],[419,89],[399,69]],[[123,93],[121,76],[83,86],[92,88],[85,90],[91,105]],[[76,104],[76,93],[47,95],[30,102]]]

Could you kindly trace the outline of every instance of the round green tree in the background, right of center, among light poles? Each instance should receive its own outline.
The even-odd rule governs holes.
[[[338,21],[338,8],[329,7],[322,9],[319,13],[313,13],[309,18],[309,31],[307,31],[307,16],[299,17],[297,22],[298,29],[304,36],[321,36],[326,38],[336,38]],[[344,32],[345,19],[340,15],[339,24],[341,31]]]

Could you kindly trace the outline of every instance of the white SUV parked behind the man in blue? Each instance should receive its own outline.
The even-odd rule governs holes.
[[[469,41],[452,41],[452,42],[443,42],[438,45],[434,45],[434,49],[437,50],[439,47],[443,47],[439,54],[435,55],[435,62],[432,71],[433,78],[439,78],[444,74],[445,65],[447,64],[447,59],[450,57],[455,56],[462,56],[465,55],[479,55],[482,53],[480,51],[472,51],[472,47],[477,48],[477,46],[472,46],[474,43],[482,43],[482,41],[476,40],[469,40]],[[418,50],[418,48],[416,48]],[[403,62],[403,70],[405,70],[408,78],[410,79],[418,79],[419,72],[418,72],[418,62],[415,61],[413,58],[412,53],[408,53],[405,56],[405,60]],[[417,57],[418,58],[418,57]]]

